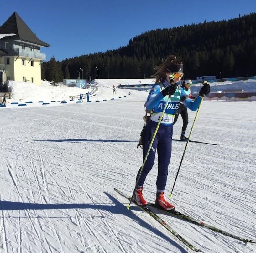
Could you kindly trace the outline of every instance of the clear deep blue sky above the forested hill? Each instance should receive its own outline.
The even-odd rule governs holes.
[[[47,60],[105,52],[148,30],[227,20],[256,12],[255,0],[8,0],[0,25],[16,11],[37,37]]]

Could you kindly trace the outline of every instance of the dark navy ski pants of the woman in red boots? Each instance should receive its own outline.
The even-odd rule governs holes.
[[[149,145],[151,143],[154,131],[156,129],[157,122],[149,121],[144,128],[143,133],[143,160],[148,152]],[[149,151],[149,156],[144,165],[143,171],[138,181],[138,186],[143,186],[149,171],[152,169],[155,161],[155,153],[157,151],[158,155],[158,174],[156,179],[157,190],[165,190],[167,175],[168,175],[168,165],[171,159],[171,144],[172,144],[172,131],[173,125],[165,126],[160,124],[157,134],[155,136],[151,150]],[[139,172],[138,172],[139,174]],[[136,182],[138,180],[138,174]]]

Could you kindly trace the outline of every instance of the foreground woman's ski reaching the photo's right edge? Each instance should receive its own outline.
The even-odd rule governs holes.
[[[198,220],[192,218],[191,216],[187,216],[187,215],[185,215],[185,214],[183,214],[183,213],[180,213],[180,212],[178,212],[178,211],[176,211],[176,210],[174,210],[174,211],[171,211],[171,210],[170,210],[170,211],[163,210],[161,207],[156,206],[154,203],[148,203],[148,206],[154,207],[154,208],[156,208],[156,209],[158,209],[158,210],[160,210],[160,211],[162,211],[162,212],[164,212],[164,213],[167,213],[167,214],[169,214],[169,215],[171,215],[171,216],[176,216],[176,217],[178,217],[178,218],[180,218],[180,219],[183,219],[183,220],[185,220],[185,221],[189,221],[189,222],[191,222],[191,223],[193,223],[193,224],[196,224],[196,225],[199,225],[199,226],[203,226],[203,227],[207,227],[207,228],[211,229],[212,231],[218,232],[218,233],[220,233],[220,234],[222,234],[222,235],[225,235],[225,236],[232,237],[232,238],[237,239],[237,240],[239,240],[239,241],[251,242],[251,243],[255,243],[255,242],[256,242],[256,241],[254,241],[254,240],[249,240],[249,239],[246,239],[246,238],[242,238],[242,237],[239,237],[239,236],[232,235],[232,234],[230,234],[230,233],[227,232],[227,231],[224,231],[224,230],[219,229],[219,228],[217,228],[217,227],[214,227],[214,226],[205,224],[203,221],[198,221]]]

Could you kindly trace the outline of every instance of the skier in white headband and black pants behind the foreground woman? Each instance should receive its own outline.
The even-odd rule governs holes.
[[[196,99],[195,97],[193,97],[191,95],[191,91],[190,91],[190,88],[189,88],[191,85],[192,85],[192,81],[190,79],[186,79],[186,80],[183,81],[183,83],[181,85],[181,88],[184,90],[187,97],[189,97],[191,99]],[[188,110],[187,110],[187,107],[182,102],[180,102],[179,109],[175,114],[173,125],[176,123],[179,115],[181,115],[182,120],[183,120],[183,126],[182,126],[182,129],[181,129],[180,140],[181,141],[187,141],[188,138],[185,137],[185,132],[186,132],[187,125],[188,125]]]

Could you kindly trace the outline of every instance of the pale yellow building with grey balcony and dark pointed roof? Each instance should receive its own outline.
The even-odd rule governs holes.
[[[39,40],[17,12],[0,27],[0,34],[9,33],[15,35],[0,39],[0,85],[9,80],[40,85],[41,63],[46,58],[40,48],[50,45]]]

